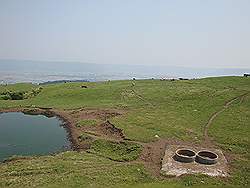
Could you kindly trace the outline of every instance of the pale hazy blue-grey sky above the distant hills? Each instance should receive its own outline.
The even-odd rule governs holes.
[[[0,58],[250,68],[250,0],[0,0]]]

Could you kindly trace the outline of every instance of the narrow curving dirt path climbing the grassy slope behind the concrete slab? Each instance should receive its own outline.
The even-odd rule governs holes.
[[[211,141],[210,137],[208,136],[208,129],[209,129],[209,127],[211,126],[211,124],[213,123],[214,119],[215,119],[218,115],[220,115],[222,112],[224,112],[227,108],[229,108],[229,107],[231,106],[231,104],[232,104],[233,102],[235,102],[236,100],[240,99],[240,103],[242,103],[242,101],[244,100],[244,97],[245,97],[246,95],[248,95],[248,94],[249,94],[249,92],[246,92],[246,93],[244,93],[244,94],[242,94],[242,95],[239,95],[239,96],[237,96],[237,97],[235,97],[235,98],[229,100],[228,102],[225,103],[225,105],[223,106],[223,108],[222,108],[221,110],[215,112],[215,113],[209,118],[207,124],[206,124],[205,127],[204,127],[204,132],[203,132],[203,136],[204,136],[203,143],[204,143],[205,145],[212,145],[212,141]]]

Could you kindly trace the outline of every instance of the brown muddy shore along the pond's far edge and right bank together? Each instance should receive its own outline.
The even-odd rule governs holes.
[[[79,141],[79,136],[81,136],[83,133],[94,133],[97,137],[107,137],[119,141],[125,139],[125,135],[123,134],[122,130],[116,128],[109,122],[109,118],[121,115],[123,113],[119,110],[85,108],[75,110],[59,110],[40,107],[0,109],[0,113],[8,112],[22,112],[29,115],[57,117],[63,122],[62,126],[67,131],[67,139],[70,141],[70,147],[74,151],[86,150],[90,147],[89,144]],[[79,121],[86,119],[98,119],[100,123],[91,127],[77,127]]]

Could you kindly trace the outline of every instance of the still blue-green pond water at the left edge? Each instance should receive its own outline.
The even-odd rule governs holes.
[[[0,162],[13,155],[46,155],[70,148],[57,117],[0,113]]]

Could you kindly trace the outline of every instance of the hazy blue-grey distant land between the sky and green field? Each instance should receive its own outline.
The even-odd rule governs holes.
[[[123,80],[135,78],[202,78],[239,76],[250,69],[190,68],[160,65],[93,64],[60,61],[0,59],[0,81],[46,82],[51,80]]]

